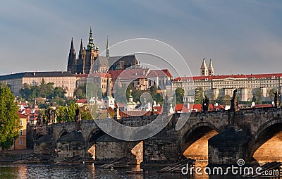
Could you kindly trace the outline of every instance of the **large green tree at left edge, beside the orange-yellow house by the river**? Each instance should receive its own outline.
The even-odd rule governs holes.
[[[18,137],[20,117],[15,96],[7,85],[0,85],[0,147],[9,149]]]

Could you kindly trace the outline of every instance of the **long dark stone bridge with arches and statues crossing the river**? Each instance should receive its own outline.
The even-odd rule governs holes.
[[[149,123],[157,116],[122,118],[125,125]],[[188,119],[176,131],[180,119]],[[35,128],[35,153],[60,161],[75,155],[95,163],[128,156],[133,163],[171,163],[183,157],[209,163],[282,161],[280,108],[173,114],[166,128],[143,141],[106,135],[94,121],[56,123]]]

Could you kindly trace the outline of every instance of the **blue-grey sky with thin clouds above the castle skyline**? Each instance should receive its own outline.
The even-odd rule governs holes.
[[[2,1],[0,75],[66,70],[71,37],[78,54],[90,25],[101,52],[107,36],[110,46],[157,39],[183,56],[192,75],[203,58],[212,58],[215,75],[282,73],[281,17],[278,0]]]

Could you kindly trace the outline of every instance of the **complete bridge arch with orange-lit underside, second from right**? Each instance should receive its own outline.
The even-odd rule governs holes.
[[[183,135],[180,153],[186,158],[207,160],[208,140],[219,132],[220,130],[212,123],[195,123]]]

